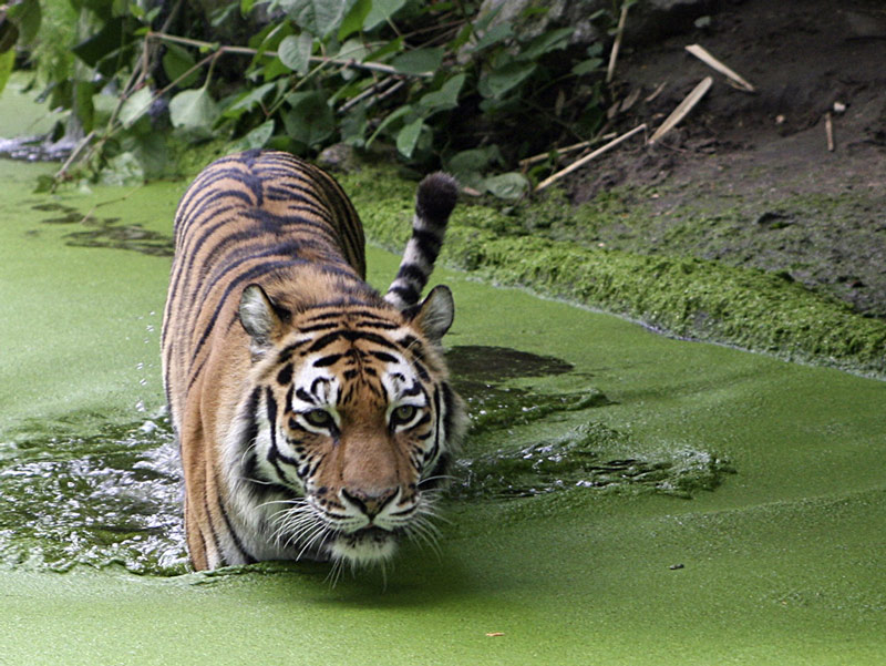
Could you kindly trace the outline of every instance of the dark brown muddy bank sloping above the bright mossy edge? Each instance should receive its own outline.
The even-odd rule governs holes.
[[[728,85],[692,43],[756,92]],[[760,268],[886,317],[885,49],[875,0],[722,3],[680,34],[629,44],[615,95],[635,102],[614,129],[657,127],[703,76],[714,85],[658,146],[635,142],[565,181],[568,201],[597,213],[550,234]]]

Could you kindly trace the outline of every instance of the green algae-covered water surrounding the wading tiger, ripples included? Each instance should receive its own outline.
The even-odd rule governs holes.
[[[886,385],[444,269],[472,431],[439,553],[188,573],[157,335],[185,184],[32,194],[51,168],[0,162],[0,664],[886,659]]]

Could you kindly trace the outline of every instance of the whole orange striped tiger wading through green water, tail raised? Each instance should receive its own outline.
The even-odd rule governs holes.
[[[161,337],[196,571],[267,560],[384,564],[435,545],[435,500],[466,426],[442,338],[452,291],[422,300],[459,195],[419,185],[381,296],[341,186],[250,150],[197,175],[174,222]]]

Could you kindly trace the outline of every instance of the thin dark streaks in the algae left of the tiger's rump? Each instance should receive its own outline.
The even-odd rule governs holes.
[[[43,224],[78,225],[80,230],[64,235],[65,244],[72,247],[106,247],[158,257],[173,256],[172,237],[138,224],[122,224],[120,217],[95,217],[91,213],[84,215],[76,208],[59,203],[43,203],[31,207],[53,214],[43,218]]]

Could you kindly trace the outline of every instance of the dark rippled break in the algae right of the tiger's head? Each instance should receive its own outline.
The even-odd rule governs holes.
[[[516,438],[515,429],[611,404],[598,389],[543,393],[507,380],[563,375],[560,359],[501,347],[455,347],[447,361],[471,412],[467,457],[456,463],[455,498],[526,498],[567,489],[657,492],[691,498],[714,490],[733,470],[689,447],[650,447],[593,419],[549,429],[553,437]],[[564,432],[565,430],[565,432]],[[559,431],[559,432],[558,432]]]

